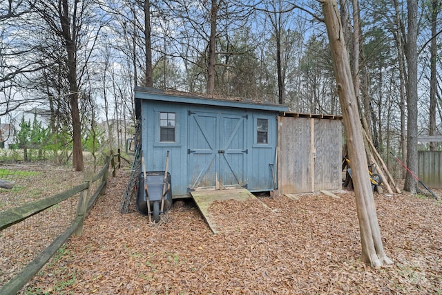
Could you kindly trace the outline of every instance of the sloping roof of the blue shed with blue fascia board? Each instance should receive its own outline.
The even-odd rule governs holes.
[[[226,97],[207,97],[196,93],[161,90],[147,87],[136,87],[135,98],[156,100],[162,102],[178,102],[184,104],[200,104],[206,106],[224,106],[231,108],[249,108],[253,110],[285,112],[289,108],[281,104],[261,104],[240,98],[227,99]]]

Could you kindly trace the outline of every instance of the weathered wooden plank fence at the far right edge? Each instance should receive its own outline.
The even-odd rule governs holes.
[[[419,179],[427,186],[442,189],[442,151],[418,151]]]

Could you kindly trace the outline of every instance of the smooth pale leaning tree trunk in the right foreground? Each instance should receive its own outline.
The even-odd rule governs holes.
[[[324,0],[323,12],[332,50],[336,82],[338,83],[338,95],[343,112],[349,157],[352,161],[356,209],[361,232],[361,260],[376,267],[390,264],[392,260],[387,257],[383,249],[373,191],[367,173],[367,158],[358,103],[354,93],[352,71],[350,70],[347,48],[345,48],[336,0]]]

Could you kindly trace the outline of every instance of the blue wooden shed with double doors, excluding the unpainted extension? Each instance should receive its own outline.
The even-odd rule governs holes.
[[[278,115],[287,106],[135,88],[146,171],[164,171],[173,198],[191,191],[273,190]]]

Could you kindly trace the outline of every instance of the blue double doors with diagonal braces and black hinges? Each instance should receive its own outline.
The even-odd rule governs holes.
[[[189,189],[245,187],[247,115],[189,112]]]

